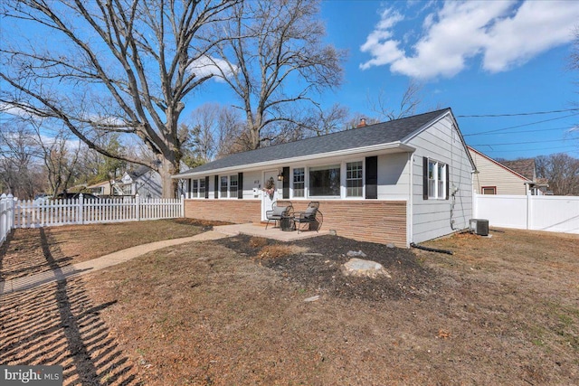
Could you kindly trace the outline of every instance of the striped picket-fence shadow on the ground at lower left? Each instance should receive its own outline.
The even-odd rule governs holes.
[[[46,264],[62,268],[58,245],[43,230],[40,240]],[[93,304],[82,278],[1,297],[0,364],[62,365],[65,385],[140,384],[100,317],[114,303]]]

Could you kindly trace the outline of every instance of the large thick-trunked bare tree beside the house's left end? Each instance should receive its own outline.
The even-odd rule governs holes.
[[[208,28],[239,1],[4,1],[0,104],[58,120],[103,155],[147,165],[173,196],[185,97],[213,76],[193,64],[214,44]],[[110,153],[99,138],[112,133],[138,137],[155,160]]]

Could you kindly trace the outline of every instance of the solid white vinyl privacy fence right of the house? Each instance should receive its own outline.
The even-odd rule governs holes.
[[[579,197],[475,193],[473,218],[491,227],[579,233]]]

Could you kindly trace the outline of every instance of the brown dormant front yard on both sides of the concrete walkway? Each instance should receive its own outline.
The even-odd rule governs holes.
[[[2,278],[206,225],[143,224],[17,230]],[[83,385],[579,384],[579,237],[491,236],[424,243],[453,255],[336,236],[161,249],[0,297],[0,364]],[[392,278],[343,277],[349,250]]]

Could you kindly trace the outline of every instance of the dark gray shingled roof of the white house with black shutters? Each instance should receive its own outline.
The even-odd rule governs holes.
[[[443,108],[407,118],[400,118],[388,122],[358,127],[340,131],[320,137],[301,139],[287,144],[261,147],[243,153],[225,156],[213,162],[197,166],[174,177],[184,177],[188,174],[206,173],[214,170],[242,165],[254,165],[264,162],[290,160],[308,155],[321,155],[339,151],[346,151],[366,146],[404,143],[422,128],[427,127],[434,120],[451,111]]]

